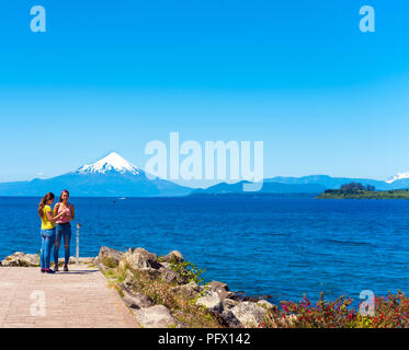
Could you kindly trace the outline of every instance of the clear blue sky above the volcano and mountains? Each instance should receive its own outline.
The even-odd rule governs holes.
[[[0,182],[110,151],[143,167],[171,131],[264,141],[265,177],[409,172],[408,1],[3,0],[0,15]]]

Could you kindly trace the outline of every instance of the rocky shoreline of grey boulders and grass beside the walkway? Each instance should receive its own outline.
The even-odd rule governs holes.
[[[75,262],[71,257],[70,264]],[[98,257],[80,262],[102,271],[145,328],[258,327],[277,308],[263,299],[230,291],[220,281],[204,284],[197,269],[178,250],[158,257],[140,247],[124,253],[103,246]],[[38,265],[38,255],[22,252],[0,261],[3,267]]]

